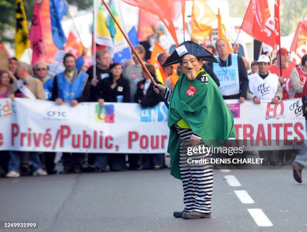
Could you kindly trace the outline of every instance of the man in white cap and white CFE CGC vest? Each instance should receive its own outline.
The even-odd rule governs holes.
[[[270,73],[268,66],[270,59],[266,55],[260,55],[258,58],[258,72],[250,74],[249,89],[254,94],[255,103],[272,102],[277,103],[282,99],[282,88],[278,76]]]

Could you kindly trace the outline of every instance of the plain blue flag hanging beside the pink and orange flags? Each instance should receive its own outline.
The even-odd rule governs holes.
[[[67,12],[65,0],[49,0],[52,27],[52,38],[54,44],[62,49],[66,43],[66,37],[62,28],[61,19]]]

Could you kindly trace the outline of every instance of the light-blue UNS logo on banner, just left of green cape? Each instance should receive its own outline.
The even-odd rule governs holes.
[[[168,121],[169,110],[165,104],[158,104],[154,107],[141,107],[140,121],[149,122],[149,121]]]

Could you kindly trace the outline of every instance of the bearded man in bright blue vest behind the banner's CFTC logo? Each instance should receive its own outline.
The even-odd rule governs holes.
[[[63,62],[66,69],[54,77],[51,99],[57,104],[69,102],[71,106],[76,106],[82,101],[90,101],[88,74],[77,70],[76,57],[71,53],[66,53]],[[64,169],[61,173],[80,173],[83,156],[83,153],[63,153]]]

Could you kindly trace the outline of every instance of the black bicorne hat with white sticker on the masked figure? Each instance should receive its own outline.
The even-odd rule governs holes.
[[[191,54],[204,61],[218,62],[212,53],[204,47],[193,41],[185,41],[181,43],[173,53],[167,58],[162,66],[169,66],[174,63],[179,63],[184,55]]]

